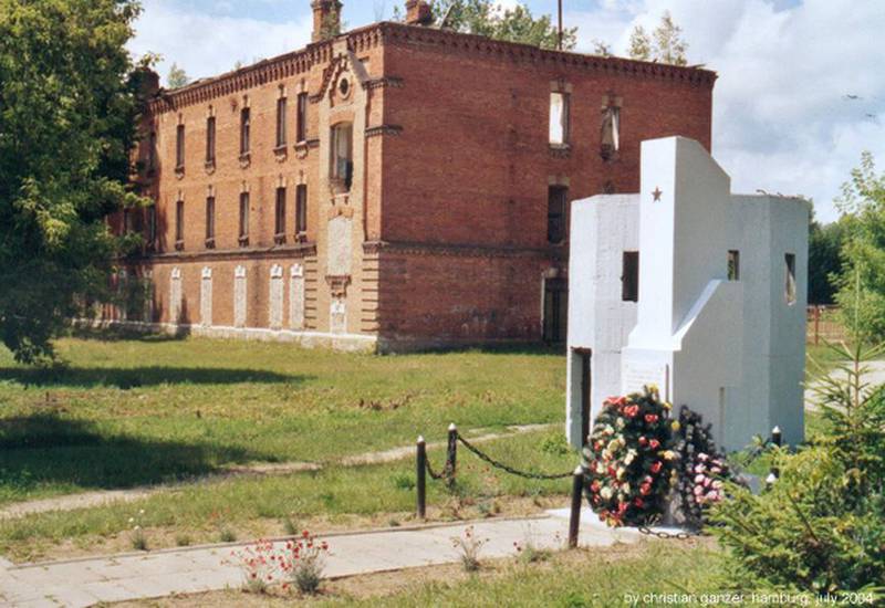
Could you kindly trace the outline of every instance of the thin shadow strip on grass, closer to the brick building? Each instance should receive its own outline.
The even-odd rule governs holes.
[[[308,376],[290,376],[261,369],[212,367],[0,367],[0,381],[24,386],[76,388],[116,387],[124,390],[156,385],[300,384]]]

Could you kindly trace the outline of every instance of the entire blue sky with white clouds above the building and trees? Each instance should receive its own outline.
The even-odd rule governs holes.
[[[513,6],[518,0],[499,0]],[[191,77],[281,54],[310,40],[310,0],[143,0],[131,43],[163,55]],[[389,17],[405,0],[343,0],[350,28]],[[553,13],[555,0],[528,0]],[[688,59],[719,72],[714,156],[736,191],[799,193],[818,216],[871,150],[885,169],[885,0],[563,0],[579,50],[595,40],[616,54],[636,24],[653,29],[669,10]]]

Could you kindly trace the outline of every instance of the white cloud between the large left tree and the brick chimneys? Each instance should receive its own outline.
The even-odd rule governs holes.
[[[294,51],[310,42],[311,14],[293,22],[210,15],[177,7],[170,0],[147,0],[129,50],[163,55],[158,72],[177,63],[191,78],[215,76],[243,64]]]

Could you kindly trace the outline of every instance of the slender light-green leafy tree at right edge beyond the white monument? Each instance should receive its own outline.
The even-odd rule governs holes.
[[[856,340],[885,337],[885,174],[863,153],[836,201],[843,213],[842,275],[836,302]]]

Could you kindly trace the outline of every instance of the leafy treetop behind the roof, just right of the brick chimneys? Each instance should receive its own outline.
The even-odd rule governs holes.
[[[493,0],[437,0],[433,3],[433,11],[438,25],[458,32],[542,49],[556,49],[559,45],[559,30],[550,15],[535,18],[523,3],[502,10],[496,7]],[[576,42],[577,28],[565,29],[563,50],[574,49]]]

